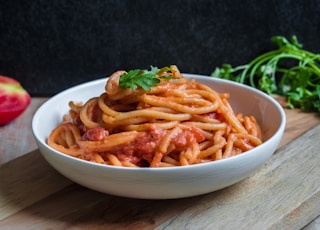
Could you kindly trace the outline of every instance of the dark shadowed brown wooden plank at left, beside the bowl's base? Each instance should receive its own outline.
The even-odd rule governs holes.
[[[44,160],[39,150],[0,166],[0,178],[0,220],[71,183]]]

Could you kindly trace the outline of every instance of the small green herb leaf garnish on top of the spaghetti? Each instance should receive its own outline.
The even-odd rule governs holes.
[[[150,70],[146,69],[134,69],[130,70],[120,76],[119,85],[121,88],[131,88],[133,90],[141,87],[148,91],[152,86],[156,86],[162,79],[168,79],[170,76],[161,76],[163,72],[170,72],[170,67],[158,67],[151,66]]]

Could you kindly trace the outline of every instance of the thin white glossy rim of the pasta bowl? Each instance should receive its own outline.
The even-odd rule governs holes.
[[[251,149],[251,150],[248,150],[242,154],[239,154],[239,155],[236,155],[236,156],[232,156],[232,157],[229,157],[229,158],[224,158],[224,159],[221,159],[221,160],[217,160],[217,161],[210,161],[210,162],[204,162],[204,163],[199,163],[199,164],[193,164],[193,165],[186,165],[186,166],[175,166],[175,167],[160,167],[160,168],[150,168],[150,167],[124,167],[124,166],[114,166],[114,165],[105,165],[105,164],[99,164],[99,163],[95,163],[95,162],[91,162],[91,161],[86,161],[86,160],[82,160],[82,159],[79,159],[79,158],[76,158],[76,157],[73,157],[73,156],[69,156],[67,154],[64,154],[64,153],[61,153],[57,150],[55,150],[54,148],[52,148],[51,146],[49,146],[47,143],[46,143],[46,140],[43,139],[40,134],[38,133],[37,131],[37,119],[38,117],[40,116],[40,112],[48,105],[50,104],[52,101],[54,101],[56,98],[59,98],[59,97],[63,97],[65,94],[68,94],[74,90],[77,90],[78,88],[82,88],[82,87],[88,87],[90,85],[96,85],[96,84],[105,84],[108,77],[103,77],[103,78],[98,78],[98,79],[94,79],[94,80],[90,80],[90,81],[87,81],[87,82],[83,82],[83,83],[80,83],[80,84],[77,84],[75,86],[72,86],[72,87],[69,87],[65,90],[62,90],[61,92],[53,95],[52,97],[50,97],[47,101],[45,101],[42,105],[39,106],[39,108],[36,110],[36,112],[34,113],[33,115],[33,118],[32,118],[32,132],[33,132],[33,135],[34,135],[34,138],[36,139],[36,142],[37,142],[37,145],[38,147],[40,148],[40,143],[45,146],[46,148],[48,148],[49,151],[51,151],[52,153],[54,154],[57,154],[58,156],[60,157],[63,157],[65,158],[66,160],[69,160],[69,161],[74,161],[74,162],[77,162],[81,165],[85,165],[85,166],[93,166],[93,167],[99,167],[99,168],[102,168],[102,169],[112,169],[112,170],[120,170],[120,171],[153,171],[153,172],[164,172],[164,171],[180,171],[180,170],[187,170],[187,169],[197,169],[197,168],[202,168],[202,167],[215,167],[215,166],[220,166],[221,164],[226,164],[226,163],[233,163],[234,161],[237,161],[239,159],[242,159],[242,158],[246,158],[246,157],[249,157],[250,155],[252,154],[259,154],[259,153],[256,153],[258,152],[261,148],[263,148],[265,145],[267,145],[268,143],[274,141],[275,138],[277,138],[279,135],[280,137],[282,137],[282,134],[284,132],[284,129],[285,129],[285,124],[286,124],[286,115],[285,115],[285,112],[284,112],[284,109],[282,108],[282,106],[273,98],[271,97],[270,95],[266,94],[265,92],[263,91],[260,91],[258,89],[255,89],[251,86],[248,86],[248,85],[244,85],[244,84],[241,84],[241,83],[238,83],[238,82],[234,82],[234,81],[231,81],[231,80],[227,80],[227,79],[221,79],[221,78],[215,78],[215,77],[211,77],[211,76],[208,76],[208,75],[201,75],[201,74],[191,74],[191,73],[182,73],[185,77],[187,78],[196,78],[196,79],[200,79],[200,80],[208,80],[210,79],[209,81],[217,81],[217,82],[223,82],[225,84],[230,84],[230,85],[234,85],[236,87],[240,87],[240,88],[244,88],[245,90],[249,90],[263,98],[265,98],[266,100],[268,100],[269,102],[271,102],[271,104],[276,108],[276,111],[279,113],[279,117],[280,117],[280,124],[279,124],[279,127],[277,128],[277,130],[275,131],[275,133],[269,137],[269,139],[267,139],[266,141],[264,141],[261,145]],[[40,152],[42,155],[44,155],[41,151],[41,148],[40,148]],[[273,153],[272,153],[273,154]]]

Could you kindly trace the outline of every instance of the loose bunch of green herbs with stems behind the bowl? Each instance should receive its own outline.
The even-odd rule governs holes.
[[[302,49],[296,36],[290,41],[275,36],[271,41],[277,49],[257,56],[246,65],[224,64],[211,75],[285,96],[289,108],[320,112],[320,54]]]

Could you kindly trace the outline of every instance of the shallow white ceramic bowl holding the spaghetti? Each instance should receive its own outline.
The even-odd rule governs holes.
[[[103,193],[142,199],[183,198],[209,193],[248,177],[276,150],[285,129],[285,113],[270,96],[235,82],[185,74],[219,92],[229,92],[235,110],[253,115],[265,141],[241,155],[219,161],[170,168],[125,168],[100,165],[62,154],[46,144],[51,130],[68,112],[70,100],[86,101],[99,96],[106,79],[65,90],[46,101],[35,113],[32,129],[44,158],[72,181]]]

